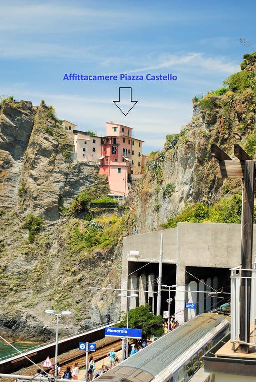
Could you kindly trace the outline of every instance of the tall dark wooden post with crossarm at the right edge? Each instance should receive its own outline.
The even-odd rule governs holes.
[[[241,353],[249,352],[250,340],[250,305],[251,305],[251,273],[253,251],[254,192],[256,178],[256,162],[240,147],[234,145],[232,160],[216,144],[211,146],[212,155],[218,159],[218,178],[241,178],[243,181],[243,213],[242,213],[242,245],[241,245],[241,286],[240,286],[240,334]],[[248,269],[248,271],[247,271]],[[245,277],[248,277],[247,279]]]

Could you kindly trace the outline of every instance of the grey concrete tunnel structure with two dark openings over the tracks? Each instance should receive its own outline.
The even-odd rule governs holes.
[[[209,293],[221,288],[230,292],[230,268],[240,265],[241,225],[178,223],[177,228],[124,238],[122,292],[131,289],[128,294],[135,291],[139,294],[130,299],[130,309],[148,302],[156,313],[161,233],[162,284],[177,285],[171,289],[170,312],[175,313],[179,323],[226,302],[230,298],[228,294],[216,297]],[[168,289],[161,294],[161,314],[168,310],[167,298]],[[185,309],[185,302],[196,303],[196,309]],[[127,299],[121,297],[121,311],[126,312],[126,304]]]

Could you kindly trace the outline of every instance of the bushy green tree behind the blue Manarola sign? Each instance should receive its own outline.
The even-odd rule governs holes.
[[[121,328],[126,327],[127,316],[124,317],[124,321],[118,325]],[[142,337],[149,338],[152,336],[160,337],[163,335],[163,318],[156,316],[150,312],[150,305],[137,306],[135,309],[129,311],[129,327],[142,329]]]

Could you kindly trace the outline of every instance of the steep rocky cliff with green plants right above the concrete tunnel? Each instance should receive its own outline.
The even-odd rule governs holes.
[[[134,233],[159,229],[189,204],[212,205],[241,192],[240,180],[217,178],[210,148],[216,143],[235,159],[238,143],[256,158],[256,54],[244,58],[243,70],[226,80],[228,87],[194,100],[191,122],[147,160]]]

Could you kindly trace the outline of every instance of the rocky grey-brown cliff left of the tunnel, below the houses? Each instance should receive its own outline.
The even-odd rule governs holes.
[[[61,322],[60,335],[119,317],[115,301],[115,308],[106,301],[92,305],[88,287],[102,285],[110,271],[112,285],[119,280],[112,268],[120,261],[123,231],[89,246],[89,222],[65,214],[76,195],[102,182],[98,165],[74,164],[70,150],[72,142],[51,107],[0,104],[0,328],[9,337],[52,337],[54,321],[43,313],[49,307],[73,312]],[[30,229],[36,229],[33,240],[24,224],[28,216]],[[121,219],[106,216],[100,233]]]

